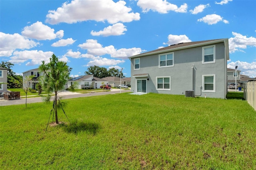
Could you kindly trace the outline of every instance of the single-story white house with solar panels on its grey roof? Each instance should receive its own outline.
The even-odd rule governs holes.
[[[104,80],[94,77],[93,75],[81,75],[68,80],[68,87],[74,82],[78,83],[78,89],[93,88],[99,89]],[[104,82],[107,84],[106,82]]]

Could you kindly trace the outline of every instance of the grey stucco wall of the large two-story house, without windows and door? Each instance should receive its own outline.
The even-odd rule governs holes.
[[[202,47],[204,46],[172,51],[174,67],[159,68],[159,54],[154,54],[140,57],[140,69],[134,70],[134,58],[132,58],[131,76],[148,73],[148,77],[131,77],[131,91],[136,92],[136,79],[148,79],[146,93],[185,95],[186,90],[194,90],[194,94],[201,97],[206,95],[213,98],[226,98],[225,45],[224,43],[215,45],[215,63],[202,64]],[[202,75],[215,75],[215,92],[202,92]],[[170,76],[171,89],[157,90],[156,77],[164,76]]]

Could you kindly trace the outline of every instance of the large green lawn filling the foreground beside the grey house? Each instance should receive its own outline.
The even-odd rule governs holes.
[[[71,125],[47,132],[51,105],[0,107],[1,169],[256,169],[247,101],[152,93],[65,101]]]

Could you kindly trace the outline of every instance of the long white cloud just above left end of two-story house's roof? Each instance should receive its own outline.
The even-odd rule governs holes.
[[[87,49],[88,54],[92,54],[94,56],[96,55],[105,55],[109,54],[111,57],[115,58],[122,58],[127,59],[127,57],[130,57],[132,55],[136,55],[142,52],[140,48],[122,48],[122,49],[115,49],[113,45],[109,45],[106,47],[103,47],[100,43],[97,42],[97,40],[86,40],[85,43],[79,44],[78,47],[82,49]]]

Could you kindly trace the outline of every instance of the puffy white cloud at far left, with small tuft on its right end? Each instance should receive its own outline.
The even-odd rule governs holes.
[[[56,37],[62,38],[64,31],[60,30],[56,34],[54,34],[54,29],[38,21],[31,26],[24,27],[21,34],[22,36],[36,40],[53,40]]]

